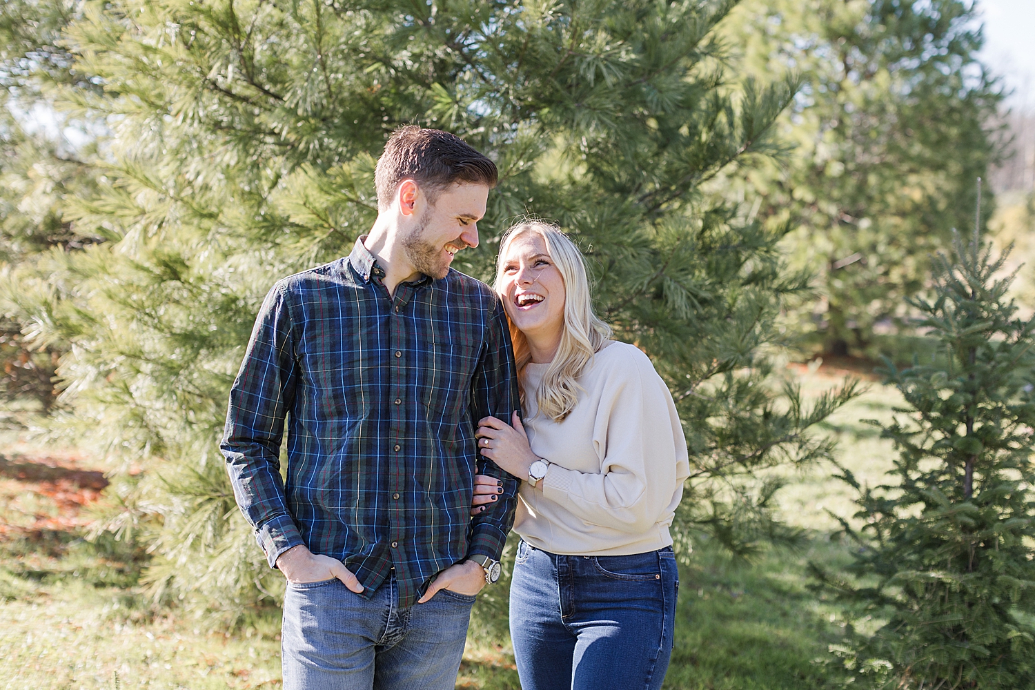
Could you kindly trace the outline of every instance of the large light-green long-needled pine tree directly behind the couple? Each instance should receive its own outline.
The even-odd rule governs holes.
[[[803,409],[771,380],[775,320],[807,276],[782,229],[703,187],[777,151],[792,82],[722,67],[732,0],[88,2],[65,33],[101,93],[61,106],[112,130],[95,193],[64,217],[105,242],[49,254],[8,294],[39,341],[71,347],[55,422],[146,472],[99,528],[136,534],[156,596],[240,611],[283,584],[234,506],[217,450],[259,304],[286,274],[348,253],[376,216],[375,156],[396,126],[453,131],[501,184],[481,245],[557,220],[590,257],[597,306],[672,387],[696,472],[681,534],[741,551],[774,533],[759,469],[829,453],[807,433],[852,393]],[[467,256],[465,256],[467,254]]]

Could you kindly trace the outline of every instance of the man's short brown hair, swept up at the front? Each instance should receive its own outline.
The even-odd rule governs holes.
[[[416,182],[434,204],[441,192],[457,182],[495,187],[498,176],[496,163],[460,137],[408,124],[392,132],[378,158],[378,207],[391,205],[403,180]]]

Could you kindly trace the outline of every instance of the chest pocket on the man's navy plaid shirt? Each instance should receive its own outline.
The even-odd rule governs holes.
[[[455,426],[471,400],[471,377],[479,349],[457,342],[428,343],[434,356],[420,372],[427,421]]]

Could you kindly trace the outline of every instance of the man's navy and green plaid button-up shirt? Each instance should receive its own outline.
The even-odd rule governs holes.
[[[450,270],[389,297],[362,239],[347,259],[267,295],[221,448],[270,566],[305,544],[343,561],[366,596],[394,567],[405,606],[466,557],[500,558],[518,481],[479,458],[474,429],[521,409],[518,377],[503,306],[487,286]],[[479,459],[504,491],[471,518]]]

